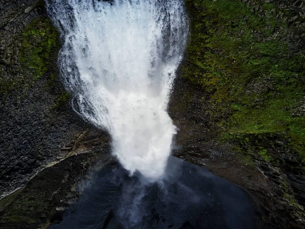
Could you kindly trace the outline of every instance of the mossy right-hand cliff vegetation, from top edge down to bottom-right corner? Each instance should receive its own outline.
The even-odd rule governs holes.
[[[202,88],[202,117],[217,126],[209,141],[264,174],[267,198],[287,208],[267,207],[264,220],[291,228],[277,215],[303,218],[305,204],[305,17],[268,0],[185,2],[191,34],[181,70]]]

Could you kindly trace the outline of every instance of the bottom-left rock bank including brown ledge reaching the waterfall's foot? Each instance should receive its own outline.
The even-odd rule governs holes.
[[[73,147],[63,148],[64,159],[56,159],[24,188],[0,200],[0,227],[46,228],[61,221],[69,205],[81,196],[92,170],[111,159],[108,143],[107,134],[89,129]]]

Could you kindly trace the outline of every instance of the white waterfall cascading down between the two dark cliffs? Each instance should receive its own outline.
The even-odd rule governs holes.
[[[74,109],[112,136],[131,174],[162,178],[176,128],[166,108],[183,54],[183,0],[47,0]]]

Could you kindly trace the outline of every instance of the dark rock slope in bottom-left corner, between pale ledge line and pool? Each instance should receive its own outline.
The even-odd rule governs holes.
[[[68,206],[80,197],[97,160],[104,164],[107,151],[74,155],[45,168],[0,212],[0,227],[46,228],[60,222]]]

